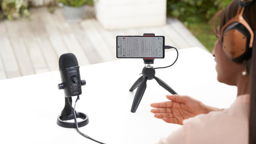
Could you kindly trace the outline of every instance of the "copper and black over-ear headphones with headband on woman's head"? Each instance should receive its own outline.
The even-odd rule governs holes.
[[[239,8],[234,18],[230,19],[220,33],[222,48],[228,58],[241,63],[251,57],[254,32],[245,20],[246,8],[255,0],[238,0]]]

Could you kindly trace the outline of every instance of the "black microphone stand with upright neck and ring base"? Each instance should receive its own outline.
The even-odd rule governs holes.
[[[70,101],[70,104],[72,106],[72,97],[65,97],[65,106],[61,114],[57,118],[57,124],[65,128],[76,128],[74,122],[66,122],[67,120],[74,119],[73,110],[70,108],[70,104],[68,101]],[[87,114],[77,111],[75,111],[75,114],[77,118],[83,119],[82,121],[77,122],[78,127],[86,126],[89,123],[89,118]]]

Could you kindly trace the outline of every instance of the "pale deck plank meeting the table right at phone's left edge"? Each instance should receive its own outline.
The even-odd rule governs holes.
[[[90,19],[87,19],[81,22],[83,31],[89,38],[90,42],[96,48],[104,62],[115,60],[115,55],[113,55],[110,52],[110,49],[106,46],[106,43],[103,41],[100,32],[90,21]]]

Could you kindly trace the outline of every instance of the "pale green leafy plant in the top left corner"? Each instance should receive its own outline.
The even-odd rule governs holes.
[[[26,0],[2,0],[1,8],[3,16],[9,20],[19,18],[21,14],[25,17],[30,15]]]

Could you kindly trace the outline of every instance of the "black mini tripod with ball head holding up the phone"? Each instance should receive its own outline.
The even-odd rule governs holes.
[[[134,82],[134,84],[129,90],[129,91],[133,91],[138,87],[132,103],[132,108],[131,108],[132,113],[135,113],[135,111],[137,110],[140,104],[140,101],[147,87],[147,83],[146,83],[147,80],[151,80],[154,78],[160,86],[162,86],[164,89],[169,91],[171,94],[177,94],[164,81],[162,81],[160,78],[155,76],[156,71],[153,66],[150,66],[150,64],[154,63],[154,58],[143,58],[143,60],[144,60],[144,63],[147,65],[142,69],[142,76],[138,78],[136,82]]]

